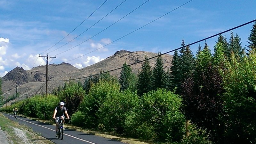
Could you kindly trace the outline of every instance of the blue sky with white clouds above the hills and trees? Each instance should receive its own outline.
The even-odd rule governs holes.
[[[256,0],[192,0],[175,11],[172,10],[189,0],[126,0],[123,4],[124,0],[105,1],[0,0],[1,76],[17,66],[28,70],[45,65],[45,59],[38,57],[38,54],[56,55],[56,58],[49,59],[49,63],[68,62],[77,68],[84,68],[122,49],[164,53],[180,47],[182,38],[186,43],[192,43],[256,18]],[[144,2],[146,3],[143,4]],[[103,5],[95,11],[101,4]],[[112,11],[119,4],[121,5]],[[133,11],[141,4],[140,8]],[[103,18],[110,11],[112,12]],[[131,11],[133,12],[124,17]],[[169,11],[172,12],[159,18]],[[122,17],[124,18],[118,21]],[[88,19],[85,20],[86,18]],[[101,18],[103,19],[98,22]],[[156,18],[159,19],[150,23]],[[115,23],[116,21],[118,22]],[[98,23],[94,25],[96,22]],[[148,23],[150,24],[146,25]],[[77,27],[79,24],[81,25]],[[146,26],[133,32],[144,25]],[[240,36],[244,47],[252,25],[233,31]],[[108,26],[110,27],[107,28]],[[105,28],[107,29],[104,30]],[[72,30],[74,31],[68,35]],[[84,32],[85,30],[87,31]],[[102,30],[104,31],[101,32]],[[133,33],[125,36],[130,32]],[[97,33],[99,34],[94,36]],[[230,32],[225,35],[229,39]],[[67,37],[60,41],[65,36]],[[125,37],[118,40],[123,36]],[[69,42],[74,38],[76,39]],[[211,49],[216,40],[217,37],[206,41]],[[59,43],[55,45],[57,42]],[[204,42],[200,44],[203,46]],[[55,46],[52,47],[53,45]],[[105,45],[107,46],[102,47]],[[190,47],[194,53],[198,45]]]

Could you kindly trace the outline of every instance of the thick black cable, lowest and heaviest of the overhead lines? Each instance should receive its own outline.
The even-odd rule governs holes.
[[[237,28],[239,28],[239,27],[242,27],[242,26],[244,26],[244,25],[248,25],[248,24],[253,23],[253,22],[255,22],[255,21],[256,21],[256,19],[254,19],[254,20],[252,20],[252,21],[249,21],[249,22],[247,22],[247,23],[244,23],[244,24],[242,24],[242,25],[238,25],[238,26],[233,27],[233,28],[231,28],[231,29],[228,29],[228,30],[226,30],[226,31],[224,31],[224,32],[220,32],[220,33],[214,34],[214,35],[209,36],[209,37],[207,37],[207,38],[204,38],[204,39],[202,39],[202,40],[198,40],[198,41],[196,41],[196,42],[193,42],[193,43],[191,43],[191,44],[185,45],[185,46],[183,46],[183,47],[179,47],[179,48],[176,48],[176,49],[171,50],[171,51],[169,51],[169,52],[166,52],[166,53],[163,53],[163,54],[159,54],[159,55],[157,55],[157,56],[153,56],[153,57],[148,58],[148,59],[145,59],[145,60],[143,60],[143,61],[147,61],[147,60],[156,58],[156,57],[158,57],[158,56],[161,56],[161,55],[164,55],[164,54],[168,54],[168,53],[174,52],[174,51],[179,50],[179,49],[181,49],[181,48],[194,45],[194,44],[199,43],[199,42],[201,42],[201,41],[208,40],[208,39],[210,39],[210,38],[213,38],[213,37],[218,36],[218,35],[220,35],[220,34],[223,34],[223,33],[229,32],[229,31],[232,31],[232,30],[237,29]],[[102,72],[102,73],[100,73],[100,74],[104,74],[104,73],[108,73],[108,72],[111,72],[111,71],[115,71],[115,70],[122,69],[122,68],[125,68],[125,67],[128,67],[128,66],[132,66],[132,65],[134,65],[134,64],[137,64],[137,63],[140,63],[140,62],[143,62],[143,61],[138,61],[138,62],[132,63],[132,64],[127,65],[127,66],[124,66],[124,67],[120,67],[120,68],[112,69],[112,70],[109,70],[109,71],[106,71],[106,72]],[[100,75],[100,74],[95,74],[95,75],[91,75],[91,76],[97,76],[97,75]],[[90,76],[85,76],[85,77],[80,77],[80,78],[75,78],[75,79],[69,79],[69,80],[55,80],[55,81],[54,81],[54,80],[49,80],[49,81],[52,81],[52,82],[71,81],[71,80],[78,80],[78,79],[87,78],[87,77],[90,77]]]

